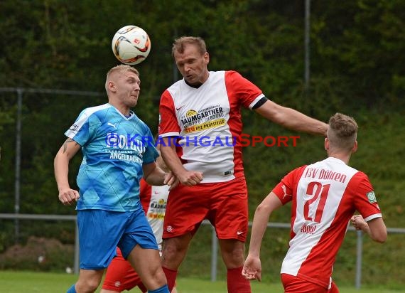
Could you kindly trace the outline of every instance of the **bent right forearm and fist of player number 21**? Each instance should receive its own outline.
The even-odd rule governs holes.
[[[387,227],[382,218],[374,218],[366,222],[362,215],[353,215],[350,219],[356,230],[367,233],[372,240],[384,243],[387,240]]]

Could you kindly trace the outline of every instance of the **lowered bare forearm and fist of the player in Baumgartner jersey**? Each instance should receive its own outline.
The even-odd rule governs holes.
[[[202,181],[202,172],[188,171],[181,164],[175,152],[175,145],[170,144],[168,137],[163,137],[164,144],[161,145],[161,155],[169,169],[177,176],[180,183],[185,186],[194,186]]]

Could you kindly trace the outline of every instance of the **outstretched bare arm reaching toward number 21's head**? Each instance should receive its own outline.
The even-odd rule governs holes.
[[[326,136],[328,124],[306,116],[301,112],[283,107],[275,102],[266,101],[256,109],[256,112],[274,123],[298,132],[308,132]]]

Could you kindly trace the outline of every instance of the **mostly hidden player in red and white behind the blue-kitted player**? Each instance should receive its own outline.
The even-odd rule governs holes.
[[[160,149],[160,144],[156,149]],[[168,169],[161,156],[156,159],[156,164],[165,172]],[[146,218],[156,237],[159,251],[162,248],[163,219],[166,212],[166,203],[168,199],[169,186],[150,186],[145,180],[141,179],[139,198],[141,199],[142,208],[144,208]],[[141,281],[138,273],[131,267],[129,261],[125,260],[121,250],[117,247],[117,257],[114,257],[107,268],[107,273],[102,284],[100,293],[116,293],[124,290],[131,290],[138,286],[141,292],[147,292],[146,287]],[[171,293],[176,293],[173,288]]]

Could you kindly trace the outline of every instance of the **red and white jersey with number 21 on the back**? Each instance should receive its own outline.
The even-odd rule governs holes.
[[[283,204],[292,201],[290,247],[281,273],[326,288],[355,211],[366,221],[382,217],[368,177],[333,157],[291,171],[273,192]]]

